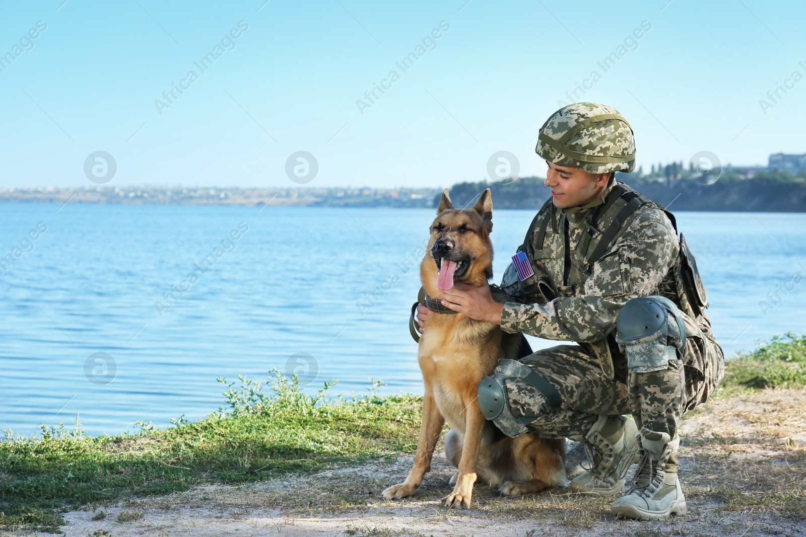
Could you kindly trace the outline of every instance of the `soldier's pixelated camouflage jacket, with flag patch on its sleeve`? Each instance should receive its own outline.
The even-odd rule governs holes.
[[[642,205],[625,221],[613,246],[598,261],[585,261],[580,246],[588,229],[586,218],[593,207],[604,202],[613,184],[584,207],[551,206],[542,216],[550,218],[542,248],[535,244],[535,230],[526,249],[535,275],[521,283],[510,263],[501,279],[501,289],[509,298],[501,312],[505,332],[587,344],[610,378],[613,345],[607,338],[615,329],[621,306],[648,295],[667,295],[679,304],[670,281],[679,262],[679,242],[671,221],[655,204]],[[534,288],[527,284],[538,279],[547,280],[555,298],[526,291]],[[683,311],[687,309],[683,307]]]

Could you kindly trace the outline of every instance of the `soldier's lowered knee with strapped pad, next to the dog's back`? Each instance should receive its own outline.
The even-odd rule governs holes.
[[[492,376],[482,379],[478,401],[484,417],[506,436],[527,432],[527,425],[561,402],[555,386],[515,360],[502,360]]]

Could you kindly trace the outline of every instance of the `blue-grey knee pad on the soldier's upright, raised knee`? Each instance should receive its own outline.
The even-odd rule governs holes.
[[[663,296],[630,299],[618,312],[616,341],[634,373],[665,370],[685,353],[683,314]]]

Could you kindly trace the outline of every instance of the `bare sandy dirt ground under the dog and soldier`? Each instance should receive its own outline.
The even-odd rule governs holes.
[[[260,484],[199,486],[65,514],[66,535],[806,535],[806,390],[717,399],[686,415],[680,448],[688,514],[668,522],[610,518],[607,498],[552,489],[504,498],[476,485],[471,510],[439,500],[443,456],[418,494],[386,502],[413,457]],[[579,473],[569,448],[569,474]],[[23,535],[23,534],[19,534]],[[30,535],[30,534],[29,534]],[[38,534],[39,535],[39,534]],[[41,534],[47,535],[47,534]]]

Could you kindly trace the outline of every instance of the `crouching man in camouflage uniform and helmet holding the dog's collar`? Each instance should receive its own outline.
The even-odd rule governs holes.
[[[700,296],[691,280],[686,287],[671,213],[614,180],[635,158],[632,128],[617,110],[559,109],[542,126],[536,152],[546,159],[552,199],[518,249],[532,270],[510,264],[495,298],[488,286],[457,283],[442,304],[505,332],[575,345],[501,361],[480,386],[482,411],[508,436],[586,444],[592,468],[571,482],[577,492],[619,494],[627,468],[640,461],[612,514],[685,514],[680,418],[724,373],[699,275]],[[418,318],[427,312],[418,308]],[[503,403],[493,408],[493,399]]]

